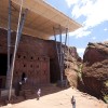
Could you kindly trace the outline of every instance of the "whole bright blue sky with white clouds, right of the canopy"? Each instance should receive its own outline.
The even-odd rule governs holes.
[[[108,0],[44,0],[83,27],[69,32],[69,45],[82,57],[89,42],[108,41]]]

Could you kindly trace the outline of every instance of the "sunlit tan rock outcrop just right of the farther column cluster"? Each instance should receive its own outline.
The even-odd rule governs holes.
[[[65,75],[71,86],[78,87],[79,57],[76,48],[67,48],[65,53]],[[81,60],[80,60],[81,62]]]

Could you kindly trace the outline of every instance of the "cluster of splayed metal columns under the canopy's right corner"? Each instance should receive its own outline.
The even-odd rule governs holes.
[[[56,53],[57,53],[57,60],[58,60],[58,66],[59,66],[59,71],[60,71],[60,86],[66,85],[66,80],[64,79],[64,58],[65,58],[65,50],[66,50],[66,44],[67,44],[67,33],[68,33],[68,28],[66,28],[66,33],[64,35],[65,38],[63,40],[63,33],[62,33],[62,27],[60,25],[58,27],[53,27],[54,30],[54,39],[55,39],[55,45],[56,45]],[[57,36],[58,36],[58,41],[57,41]],[[63,48],[64,45],[64,48]]]

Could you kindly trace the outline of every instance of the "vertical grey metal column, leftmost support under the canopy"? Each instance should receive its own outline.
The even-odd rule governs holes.
[[[10,85],[8,84],[9,82],[9,78],[10,78],[10,53],[11,53],[11,13],[12,13],[12,9],[11,9],[11,0],[9,0],[9,22],[8,22],[8,71],[6,71],[6,83],[5,83],[5,87],[9,89]]]

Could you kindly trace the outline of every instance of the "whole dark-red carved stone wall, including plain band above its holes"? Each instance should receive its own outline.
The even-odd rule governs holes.
[[[0,29],[0,54],[5,55],[8,54],[6,33],[6,30]],[[11,56],[13,55],[15,36],[15,32],[12,32]],[[27,77],[27,83],[32,86],[50,83],[50,58],[55,57],[54,45],[51,44],[52,42],[42,39],[25,35],[22,36],[15,59],[14,86],[22,81],[23,73]],[[49,51],[51,49],[53,55]]]

